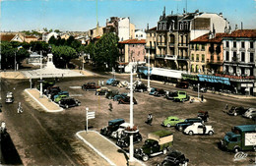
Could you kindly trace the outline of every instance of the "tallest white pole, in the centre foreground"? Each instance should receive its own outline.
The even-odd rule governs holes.
[[[131,76],[130,76],[130,128],[133,128],[133,67],[131,69]],[[129,149],[129,153],[130,153],[130,158],[129,161],[133,162],[134,158],[133,158],[133,134],[130,135],[130,149]]]

